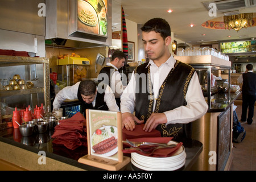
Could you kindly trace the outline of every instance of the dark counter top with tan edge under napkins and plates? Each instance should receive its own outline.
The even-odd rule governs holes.
[[[10,128],[0,130],[0,159],[6,160],[10,163],[14,162],[14,164],[17,161],[22,161],[17,162],[15,165],[28,170],[65,170],[63,167],[61,167],[63,164],[67,164],[67,166],[70,168],[65,168],[69,170],[103,170],[101,168],[92,167],[77,162],[80,157],[88,153],[87,147],[80,146],[75,150],[69,150],[64,146],[56,146],[52,143],[53,139],[51,136],[53,133],[54,130],[49,130],[44,134],[34,134],[31,137],[22,137],[19,129]],[[185,152],[187,155],[185,165],[179,170],[189,170],[189,168],[192,167],[193,163],[195,163],[201,151],[203,150],[203,144],[197,140],[192,139],[180,139],[179,142],[183,142],[183,146],[185,147]],[[13,147],[15,149],[13,149]],[[22,151],[24,152],[23,158],[17,160],[19,154],[22,154]],[[52,165],[39,165],[37,161],[39,158],[39,151],[46,152],[47,158],[53,159],[55,162],[52,162]],[[26,155],[26,152],[29,152],[30,154]],[[30,164],[30,166],[26,166],[27,161],[32,160],[31,152],[34,153],[34,160],[36,160],[36,162],[34,162],[34,164]],[[127,154],[125,155],[127,156]],[[49,161],[48,159],[47,161]],[[41,168],[41,166],[47,166],[48,168]],[[129,163],[126,167],[122,168],[122,170],[131,171],[139,169],[135,168],[131,163]]]

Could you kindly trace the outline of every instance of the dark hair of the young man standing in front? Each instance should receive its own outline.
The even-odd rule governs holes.
[[[143,32],[155,31],[156,33],[160,33],[164,40],[167,36],[171,36],[171,27],[169,23],[162,18],[153,18],[148,20],[141,30]]]

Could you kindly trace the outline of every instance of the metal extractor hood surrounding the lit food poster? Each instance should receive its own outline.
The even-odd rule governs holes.
[[[46,46],[57,45],[64,48],[88,48],[112,45],[112,11],[108,9],[108,36],[70,32],[69,11],[77,7],[79,0],[46,0]],[[111,7],[112,0],[108,0]]]

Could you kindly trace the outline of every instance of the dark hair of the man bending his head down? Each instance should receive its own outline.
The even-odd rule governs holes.
[[[79,84],[79,92],[84,96],[95,94],[96,88],[96,82],[93,80],[83,80]]]

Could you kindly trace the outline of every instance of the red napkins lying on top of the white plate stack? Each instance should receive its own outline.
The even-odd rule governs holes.
[[[137,138],[137,139],[130,139],[133,142],[155,142],[155,143],[168,143],[172,137],[156,137],[156,138]],[[166,158],[170,157],[175,154],[177,150],[183,145],[182,142],[177,143],[176,147],[173,148],[159,148],[155,151],[154,148],[155,146],[139,146],[138,148],[141,148],[143,151],[150,152],[149,154],[145,154],[142,151],[139,150],[122,150],[123,153],[130,154],[131,152],[137,152],[138,154],[144,155],[144,156],[151,156],[155,158]]]

